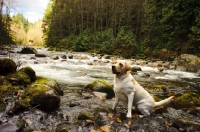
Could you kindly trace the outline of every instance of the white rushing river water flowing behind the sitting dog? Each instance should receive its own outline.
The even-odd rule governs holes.
[[[96,79],[104,79],[112,83],[113,74],[111,72],[110,59],[99,59],[97,56],[92,56],[88,53],[66,53],[47,51],[47,49],[38,49],[39,53],[47,54],[49,56],[58,55],[71,55],[73,59],[58,59],[53,60],[50,57],[31,59],[35,55],[20,55],[20,61],[22,67],[32,67],[38,76],[44,76],[57,80],[58,82],[68,85],[85,85]],[[84,59],[82,59],[84,57]],[[97,62],[93,65],[91,63]],[[127,60],[130,62],[130,60]],[[138,66],[138,65],[131,65]],[[142,71],[138,73],[138,76],[143,73],[149,73],[152,79],[156,80],[188,80],[191,82],[200,83],[200,77],[196,73],[176,71],[176,70],[164,70],[162,73],[157,68],[149,66],[139,66]]]

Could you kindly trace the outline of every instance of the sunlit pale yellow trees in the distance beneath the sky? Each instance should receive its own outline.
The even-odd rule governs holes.
[[[41,26],[42,20],[30,23],[21,13],[12,16],[11,30],[14,42],[21,45],[42,46]]]

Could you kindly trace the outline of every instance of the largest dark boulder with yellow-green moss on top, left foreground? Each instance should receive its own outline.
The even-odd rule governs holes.
[[[60,96],[47,85],[31,85],[25,89],[22,99],[15,103],[14,113],[19,113],[29,107],[36,107],[45,112],[51,112],[60,106]]]

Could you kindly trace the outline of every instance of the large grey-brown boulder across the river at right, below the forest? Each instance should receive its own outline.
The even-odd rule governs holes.
[[[200,69],[200,58],[191,54],[182,54],[175,59],[176,70],[198,72]]]

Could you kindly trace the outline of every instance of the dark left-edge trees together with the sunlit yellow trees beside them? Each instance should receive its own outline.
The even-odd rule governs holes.
[[[18,13],[10,16],[13,1],[0,0],[0,46],[43,45],[42,20],[30,23]]]

